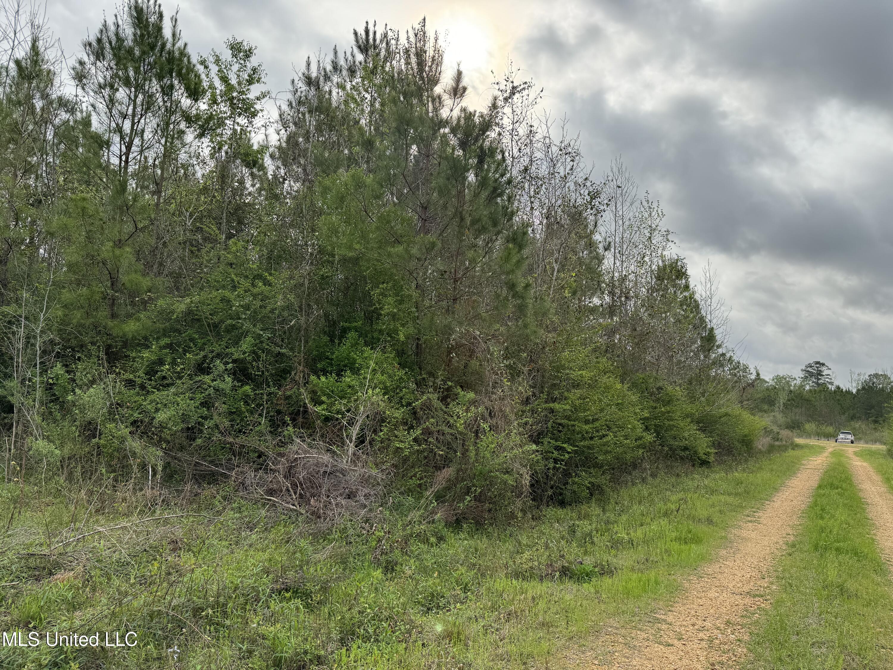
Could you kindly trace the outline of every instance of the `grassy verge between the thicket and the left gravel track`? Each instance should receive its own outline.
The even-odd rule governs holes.
[[[519,668],[550,663],[592,626],[672,596],[731,523],[797,471],[805,446],[663,473],[587,505],[499,528],[376,523],[317,532],[294,516],[205,492],[220,516],[54,537],[91,499],[29,491],[0,536],[0,630],[136,630],[128,651],[0,648],[9,668]],[[4,493],[0,491],[0,493]],[[5,491],[0,518],[17,490]],[[90,526],[177,508],[100,497]],[[118,505],[119,507],[115,507]],[[395,506],[398,507],[398,506]],[[30,664],[30,665],[27,665]]]

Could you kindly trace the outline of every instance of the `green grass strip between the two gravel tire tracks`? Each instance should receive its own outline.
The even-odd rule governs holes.
[[[780,563],[750,641],[758,668],[891,667],[893,598],[862,498],[839,452]]]

